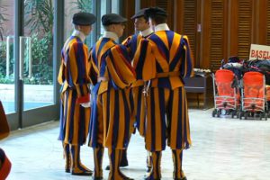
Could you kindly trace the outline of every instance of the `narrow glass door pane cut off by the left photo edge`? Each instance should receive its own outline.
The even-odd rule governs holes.
[[[0,1],[0,100],[6,113],[15,112],[14,0]]]

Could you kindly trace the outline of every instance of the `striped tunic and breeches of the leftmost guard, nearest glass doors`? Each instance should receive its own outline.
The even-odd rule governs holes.
[[[80,105],[90,100],[87,58],[87,46],[78,37],[71,36],[62,49],[58,73],[58,83],[62,85],[58,139],[65,144],[82,145],[87,138],[90,108]]]

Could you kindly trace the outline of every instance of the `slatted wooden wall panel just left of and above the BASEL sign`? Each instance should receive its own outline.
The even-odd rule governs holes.
[[[252,35],[252,1],[238,0],[238,57],[248,58]]]

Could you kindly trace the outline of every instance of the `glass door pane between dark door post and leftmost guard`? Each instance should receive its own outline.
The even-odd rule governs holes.
[[[24,37],[20,37],[24,110],[54,103],[53,4],[53,0],[24,0]]]

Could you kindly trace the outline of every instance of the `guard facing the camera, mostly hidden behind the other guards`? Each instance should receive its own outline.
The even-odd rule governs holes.
[[[139,41],[142,39],[148,38],[152,33],[152,29],[148,23],[148,17],[145,15],[145,10],[147,8],[139,10],[137,14],[134,14],[131,19],[134,20],[135,30],[139,31],[139,34],[133,34],[129,36],[126,40],[122,42],[123,45],[127,47],[129,50],[130,59],[133,60],[137,47],[139,45]],[[135,127],[139,130],[139,134],[144,136],[144,123],[146,119],[145,114],[145,101],[144,96],[142,94],[144,88],[144,82],[142,80],[142,64],[139,64],[136,67],[136,76],[137,80],[132,84],[131,93],[133,98],[134,109],[133,113],[136,119]],[[127,165],[127,151],[123,150],[121,157],[121,165]],[[151,156],[150,152],[148,152],[147,157],[147,172],[149,172],[151,168]]]

